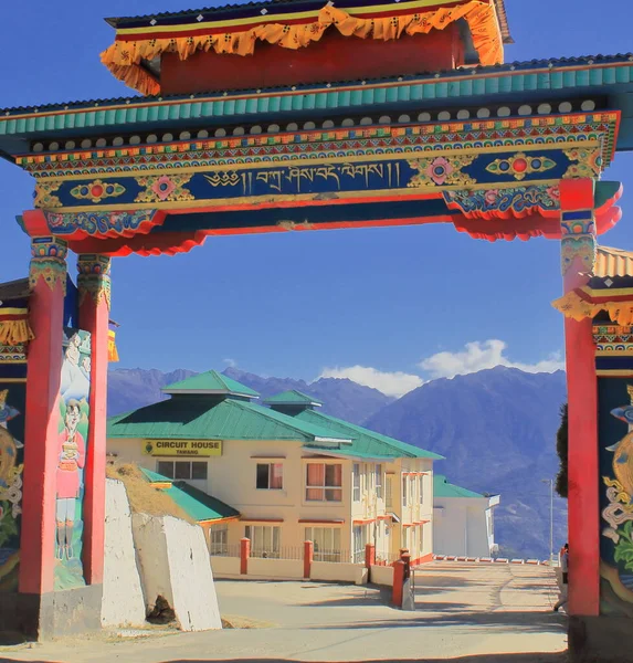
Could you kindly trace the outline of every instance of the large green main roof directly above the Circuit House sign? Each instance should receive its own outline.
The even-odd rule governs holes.
[[[108,438],[159,440],[294,440],[349,442],[328,428],[247,401],[201,396],[154,403],[108,420]]]

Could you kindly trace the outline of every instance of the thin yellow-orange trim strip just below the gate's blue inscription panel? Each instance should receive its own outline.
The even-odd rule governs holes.
[[[534,183],[539,186],[552,187],[560,182],[560,180],[538,180]],[[494,187],[495,189],[507,189],[516,187],[516,182],[508,182],[507,185],[487,183],[487,185],[470,185],[466,187],[471,191],[484,191]],[[411,187],[407,189],[381,189],[379,191],[340,191],[338,198],[333,198],[333,201],[337,201],[342,198],[383,198],[386,196],[408,196],[411,198],[428,196],[429,193],[437,193],[440,197],[443,191],[462,191],[464,186],[451,186],[451,187]],[[337,193],[336,191],[334,193]],[[257,203],[277,203],[277,202],[303,202],[303,201],[321,201],[323,193],[288,193],[285,196],[250,196],[244,198],[210,198],[205,200],[186,200],[176,202],[131,202],[128,204],[113,204],[113,206],[99,206],[94,207],[76,207],[76,208],[43,208],[44,211],[51,213],[74,213],[74,212],[95,212],[95,211],[128,211],[128,210],[178,210],[178,209],[194,209],[194,208],[212,208],[212,207],[224,207],[224,206],[241,206],[241,204],[257,204]],[[345,204],[345,203],[342,203]]]

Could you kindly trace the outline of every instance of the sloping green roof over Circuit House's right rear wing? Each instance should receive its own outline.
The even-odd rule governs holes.
[[[435,461],[441,461],[444,457],[431,451],[413,446],[412,444],[400,442],[400,440],[389,438],[388,435],[382,435],[376,431],[342,421],[336,417],[324,414],[323,412],[304,410],[299,414],[296,414],[294,419],[318,425],[330,431],[330,434],[351,438],[351,446],[340,450],[339,453],[341,454],[358,455],[359,457],[415,457],[432,459]]]

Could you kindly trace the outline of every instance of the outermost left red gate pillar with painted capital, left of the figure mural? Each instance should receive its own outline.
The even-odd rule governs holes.
[[[24,486],[20,539],[21,593],[53,591],[55,565],[55,476],[67,244],[33,238],[29,282],[30,323]]]

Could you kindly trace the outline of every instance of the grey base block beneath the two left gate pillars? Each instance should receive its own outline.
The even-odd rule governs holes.
[[[44,642],[102,628],[103,586],[92,585],[45,594],[3,594],[0,641],[27,638]]]

